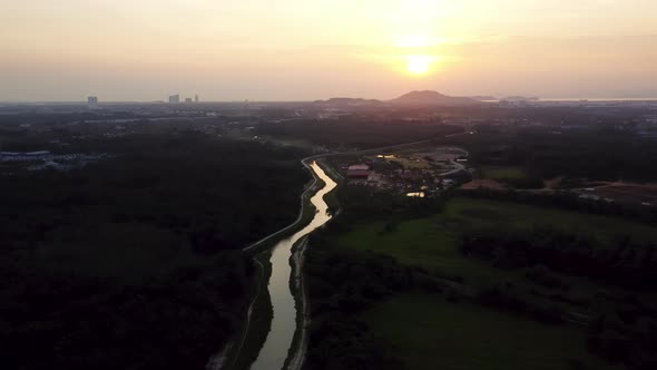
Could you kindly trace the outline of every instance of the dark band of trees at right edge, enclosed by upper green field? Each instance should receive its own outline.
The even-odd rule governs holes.
[[[501,269],[547,266],[560,273],[586,276],[628,290],[657,288],[657,246],[620,237],[609,244],[552,228],[529,233],[489,232],[462,237],[461,253],[491,261]],[[567,288],[546,270],[531,271],[528,279],[550,288]]]

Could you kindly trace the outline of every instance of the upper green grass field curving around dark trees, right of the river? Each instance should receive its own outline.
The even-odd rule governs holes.
[[[441,214],[399,223],[392,231],[383,221],[363,221],[341,234],[337,245],[350,251],[373,251],[394,256],[409,265],[419,265],[449,275],[464,276],[471,283],[490,283],[514,272],[464,259],[458,242],[462,233],[492,228],[522,231],[551,225],[563,231],[588,233],[610,240],[633,235],[637,240],[657,240],[657,228],[626,220],[545,208],[508,202],[458,197],[448,202]]]

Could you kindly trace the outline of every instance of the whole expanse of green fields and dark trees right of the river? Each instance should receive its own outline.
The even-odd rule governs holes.
[[[393,369],[654,364],[654,227],[533,198],[339,196],[307,252],[308,368],[383,354]]]

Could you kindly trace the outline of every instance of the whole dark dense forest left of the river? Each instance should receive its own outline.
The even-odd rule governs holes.
[[[288,223],[303,153],[173,130],[0,182],[9,369],[203,369],[246,311],[239,249]]]

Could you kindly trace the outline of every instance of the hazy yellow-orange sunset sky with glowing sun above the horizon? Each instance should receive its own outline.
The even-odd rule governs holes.
[[[657,97],[655,0],[0,0],[0,100]]]

